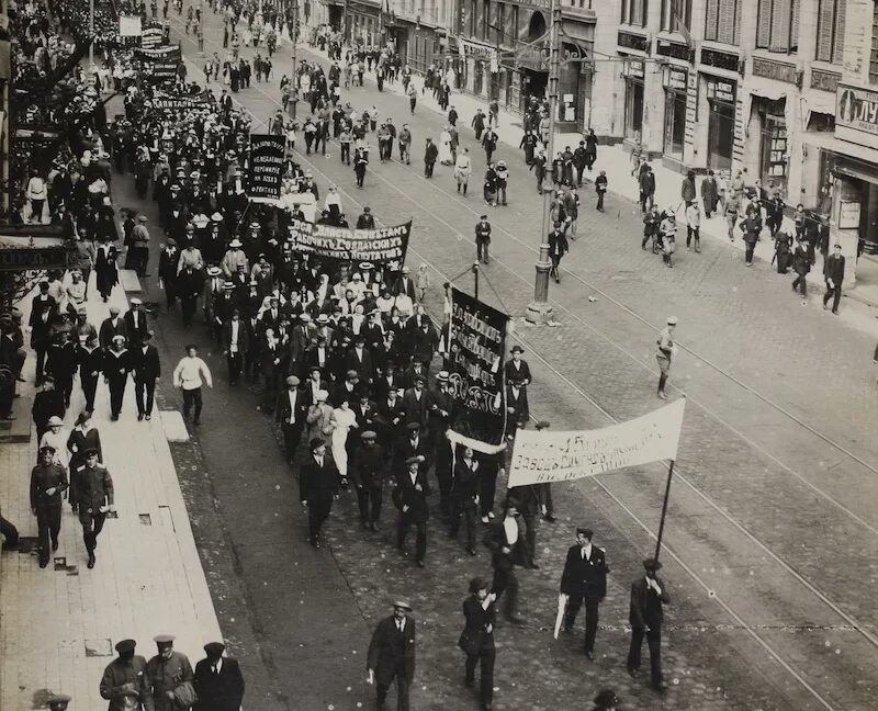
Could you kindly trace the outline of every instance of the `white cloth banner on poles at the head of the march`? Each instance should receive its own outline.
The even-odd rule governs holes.
[[[598,430],[518,430],[509,466],[509,488],[570,482],[661,460],[675,460],[683,410],[680,397],[661,409]]]

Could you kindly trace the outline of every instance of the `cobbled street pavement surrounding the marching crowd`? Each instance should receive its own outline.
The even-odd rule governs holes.
[[[178,36],[194,72],[201,60]],[[221,43],[218,21],[207,15],[205,48],[222,52]],[[282,61],[275,55],[270,84],[236,97],[259,121],[275,109]],[[482,270],[480,294],[514,316],[513,338],[528,350],[534,373],[534,415],[576,429],[654,408],[656,331],[669,314],[680,318],[682,352],[672,377],[679,390],[672,396],[685,391],[687,416],[663,551],[674,601],[664,646],[671,691],[660,700],[624,674],[628,586],[654,546],[661,508],[665,472],[656,465],[555,487],[560,521],[540,528],[541,568],[521,574],[528,623],[497,632],[496,708],[579,708],[601,686],[616,687],[628,707],[642,709],[870,708],[878,676],[870,603],[878,577],[870,329],[802,306],[767,264],[745,270],[728,242],[706,242],[700,255],[682,251],[668,270],[640,250],[640,219],[630,201],[614,195],[600,214],[589,193],[583,195],[581,238],[565,258],[562,283],[551,286],[561,324],[529,327],[520,316],[531,296],[542,221],[520,154],[503,146],[496,155],[510,166],[509,206],[483,208],[477,146],[471,144],[472,190],[461,199],[449,168],[438,167],[432,181],[423,178],[417,147],[438,136],[442,116],[421,105],[412,117],[402,97],[379,94],[371,83],[349,94],[358,108],[374,103],[397,126],[409,121],[413,165],[373,160],[367,188],[358,191],[336,145],[326,157],[303,156],[303,163],[323,192],[329,182],[339,185],[349,217],[368,203],[382,224],[414,219],[408,263],[434,270],[428,306],[435,314],[441,282],[471,263],[473,225],[489,211],[495,258]],[[461,123],[469,124],[465,113]],[[161,301],[155,283],[147,289]],[[238,630],[243,648],[236,653],[250,655],[254,673],[260,667],[267,685],[260,698],[293,709],[369,703],[371,690],[362,684],[368,630],[404,594],[421,625],[414,708],[474,707],[454,642],[466,580],[488,574],[487,552],[463,555],[434,519],[428,567],[418,571],[393,551],[392,512],[380,534],[363,534],[351,497],[333,515],[328,550],[306,549],[295,481],[257,413],[258,388],[229,393],[205,334],[183,335],[166,316],[157,324],[165,362],[194,338],[219,375],[196,442],[175,456],[212,594],[228,596],[227,613],[217,603],[223,629]],[[205,488],[210,503],[199,496]],[[612,568],[595,664],[578,653],[578,637],[553,642],[550,632],[565,545],[582,523],[597,531]],[[223,533],[212,538],[211,530]],[[201,542],[211,542],[207,552]],[[229,568],[235,582],[224,575]]]

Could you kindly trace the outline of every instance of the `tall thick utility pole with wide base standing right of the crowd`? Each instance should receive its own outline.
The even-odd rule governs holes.
[[[537,257],[537,279],[533,284],[533,301],[528,304],[525,318],[531,324],[549,324],[553,320],[552,306],[549,304],[549,270],[552,262],[549,259],[549,242],[545,241],[549,230],[549,214],[554,190],[551,184],[551,166],[555,153],[555,115],[558,114],[558,80],[561,72],[561,50],[559,33],[561,31],[561,4],[559,0],[551,3],[552,26],[549,32],[549,140],[545,144],[545,174],[549,185],[543,180],[542,187],[542,232],[540,233],[540,253]],[[548,188],[548,189],[547,189]]]

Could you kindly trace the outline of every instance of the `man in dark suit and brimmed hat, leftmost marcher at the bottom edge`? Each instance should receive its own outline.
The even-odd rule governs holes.
[[[393,603],[393,614],[378,623],[365,669],[369,684],[376,685],[378,708],[383,711],[393,680],[396,679],[396,711],[408,711],[408,687],[415,678],[415,618],[405,600]]]

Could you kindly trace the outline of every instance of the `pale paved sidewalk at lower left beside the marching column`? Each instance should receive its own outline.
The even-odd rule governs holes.
[[[98,328],[109,304],[100,301],[93,284],[89,294],[89,321]],[[25,301],[21,304],[24,323],[30,298]],[[111,303],[123,313],[127,309],[121,285]],[[170,377],[172,368],[173,363],[162,363],[164,377]],[[32,356],[24,375],[33,383]],[[82,406],[77,384],[65,433]],[[86,567],[82,529],[66,503],[54,566],[38,567],[35,538],[27,540],[36,535],[36,519],[29,508],[36,435],[30,443],[0,449],[3,514],[18,527],[24,544],[21,552],[0,556],[2,709],[42,708],[53,691],[72,697],[70,711],[103,711],[106,701],[100,698],[98,686],[120,640],[136,640],[137,654],[148,659],[156,653],[153,637],[172,633],[176,648],[193,666],[204,656],[203,644],[222,640],[166,439],[166,429],[175,435],[180,428],[185,431],[179,413],[165,411],[149,422],[138,422],[130,381],[120,420],[110,421],[109,416],[109,394],[101,384],[94,422],[101,432],[104,464],[113,476],[119,518],[106,521],[98,564],[91,571]],[[31,542],[33,550],[27,552]]]

